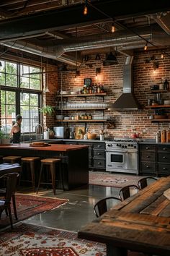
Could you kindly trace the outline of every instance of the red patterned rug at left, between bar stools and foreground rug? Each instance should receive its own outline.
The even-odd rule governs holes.
[[[45,212],[54,208],[58,208],[68,200],[58,199],[58,198],[49,198],[49,197],[35,197],[31,195],[19,195],[16,194],[16,205],[17,205],[17,215],[18,220],[22,221],[26,218],[35,216],[38,213]],[[13,207],[12,207],[12,220],[13,223],[17,221],[14,218]],[[9,218],[6,218],[5,211],[1,214],[0,219],[0,229],[4,226],[9,225]]]

